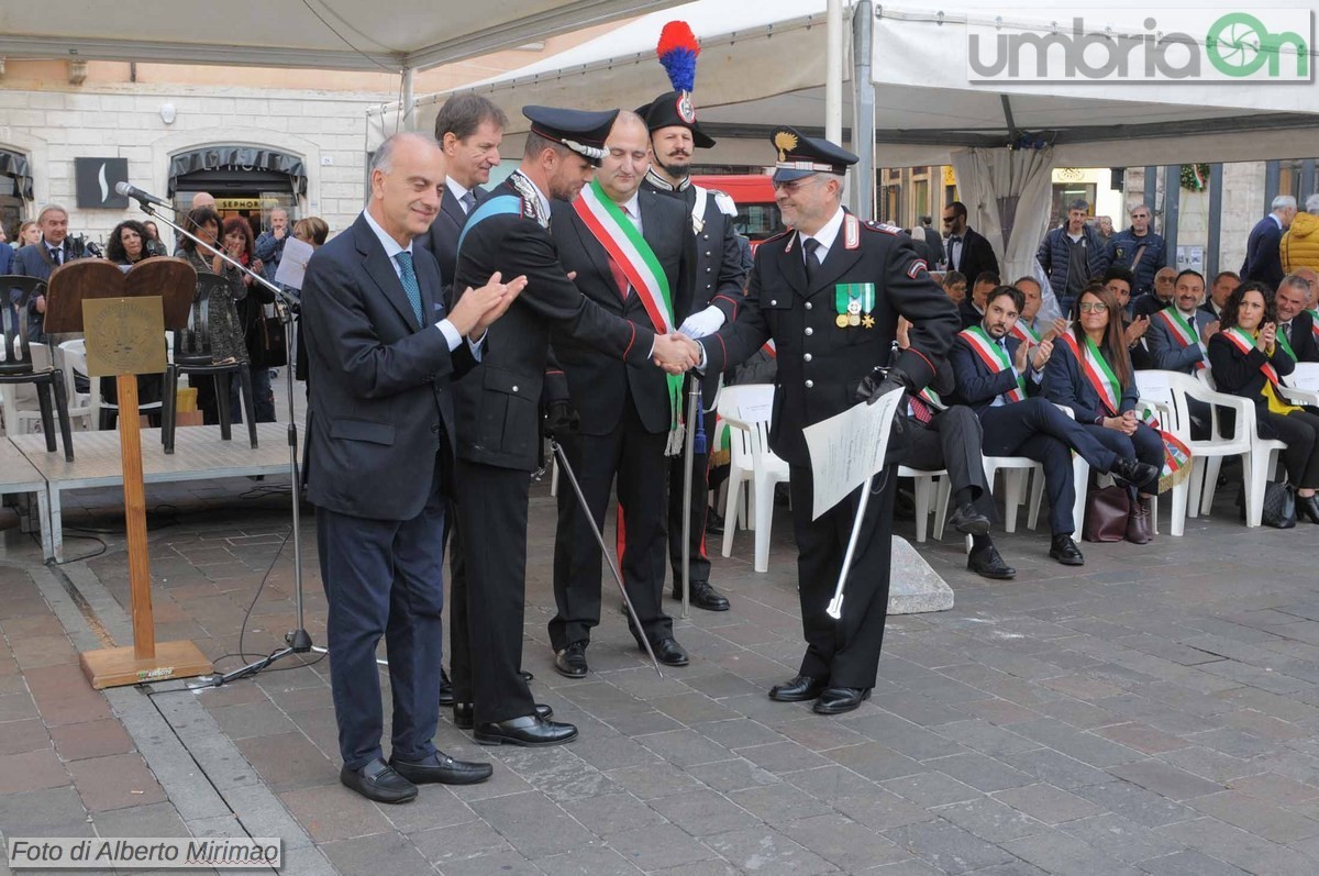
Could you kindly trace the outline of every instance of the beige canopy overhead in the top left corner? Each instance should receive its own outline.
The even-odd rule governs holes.
[[[0,4],[0,57],[425,70],[674,0],[44,0]],[[104,8],[100,8],[104,5]]]

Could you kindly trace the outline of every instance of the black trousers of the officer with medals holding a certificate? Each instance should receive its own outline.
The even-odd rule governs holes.
[[[889,559],[893,553],[893,483],[889,466],[873,479],[871,495],[847,575],[843,617],[826,612],[860,503],[856,489],[816,520],[811,520],[814,478],[810,466],[791,466],[793,533],[797,537],[797,592],[802,603],[806,656],[801,674],[826,678],[840,687],[873,687],[889,613]]]

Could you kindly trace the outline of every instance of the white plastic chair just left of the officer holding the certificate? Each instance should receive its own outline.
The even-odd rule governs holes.
[[[774,408],[772,384],[725,387],[719,417],[729,426],[731,468],[724,505],[724,557],[732,555],[733,529],[743,487],[751,489],[752,529],[756,532],[756,571],[769,571],[769,530],[774,516],[774,484],[786,483],[787,463],[769,449],[769,420]]]

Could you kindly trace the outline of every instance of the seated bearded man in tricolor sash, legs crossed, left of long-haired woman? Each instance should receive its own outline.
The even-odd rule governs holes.
[[[1158,470],[1119,456],[1043,398],[1043,368],[1054,344],[1043,340],[1030,348],[1010,336],[1022,305],[1020,290],[998,286],[989,293],[984,322],[958,335],[950,354],[956,397],[980,417],[987,455],[1028,456],[1043,464],[1053,534],[1049,555],[1064,566],[1082,566],[1086,558],[1071,537],[1076,500],[1071,451],[1080,454],[1091,468],[1132,483],[1157,479]]]

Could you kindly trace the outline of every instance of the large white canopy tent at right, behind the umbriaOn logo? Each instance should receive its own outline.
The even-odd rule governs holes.
[[[1199,9],[1194,0],[1165,7]],[[1297,0],[1279,7],[1304,9]],[[868,58],[857,8],[873,20]],[[524,104],[583,108],[636,107],[667,90],[654,55],[663,24],[687,21],[702,44],[694,99],[702,125],[719,140],[704,162],[764,165],[766,136],[776,124],[819,133],[824,123],[826,0],[760,0],[754,4],[700,0],[652,13],[559,55],[476,83],[510,119],[505,150],[525,132]],[[966,3],[938,8],[853,4],[845,67],[869,61],[876,164],[951,164],[963,186],[971,223],[989,236],[1005,273],[1025,273],[1049,215],[1054,166],[1145,166],[1202,161],[1301,158],[1319,152],[1319,88],[1299,83],[1059,83],[993,82],[968,78],[968,29],[1004,18],[1049,33],[1059,16],[1053,0],[1014,0],[996,12]],[[1119,33],[1144,29],[1149,7],[1068,8],[1087,29]],[[1170,22],[1175,25],[1177,22]],[[1310,29],[1304,32],[1308,37]],[[1312,58],[1311,58],[1312,59]],[[860,62],[860,63],[859,63]],[[864,73],[863,73],[864,75]],[[856,79],[855,75],[849,79]],[[849,88],[852,104],[869,95]],[[417,100],[417,127],[434,124],[447,94]],[[844,127],[853,107],[844,100]],[[368,140],[393,128],[390,108],[368,119]],[[1042,149],[1008,149],[1022,136]],[[848,137],[855,142],[855,137]],[[853,145],[853,149],[857,149]],[[864,150],[857,149],[863,153]],[[1016,218],[1016,222],[1014,222]],[[1006,232],[1006,234],[1005,234]]]

